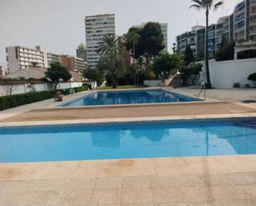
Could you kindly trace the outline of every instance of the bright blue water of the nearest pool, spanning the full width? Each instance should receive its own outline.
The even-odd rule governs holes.
[[[256,154],[256,120],[0,128],[0,162]]]

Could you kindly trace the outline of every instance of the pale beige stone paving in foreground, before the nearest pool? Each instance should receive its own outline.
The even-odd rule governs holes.
[[[1,206],[256,205],[256,156],[0,164]]]

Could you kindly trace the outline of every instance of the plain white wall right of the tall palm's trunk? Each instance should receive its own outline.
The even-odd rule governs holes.
[[[240,87],[245,84],[255,87],[256,84],[247,79],[253,73],[256,73],[256,59],[210,63],[210,81],[214,88],[231,89],[234,83],[239,83]]]

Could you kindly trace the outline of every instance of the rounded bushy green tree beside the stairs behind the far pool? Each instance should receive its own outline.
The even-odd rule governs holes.
[[[180,55],[177,54],[161,54],[155,60],[153,69],[162,79],[170,78],[171,74],[181,66]]]

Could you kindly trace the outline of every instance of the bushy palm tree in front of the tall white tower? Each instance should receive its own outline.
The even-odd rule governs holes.
[[[125,60],[124,48],[118,36],[108,34],[104,36],[104,43],[99,46],[99,60],[98,69],[105,71],[111,76],[111,84],[114,89],[117,88],[117,79],[120,74],[124,73]]]

